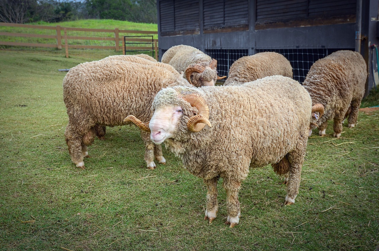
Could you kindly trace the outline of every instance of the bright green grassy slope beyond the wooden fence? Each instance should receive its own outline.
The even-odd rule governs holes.
[[[138,30],[138,31],[140,30],[141,31],[157,31],[158,30],[157,24],[134,23],[134,22],[128,22],[128,21],[111,20],[111,19],[101,19],[101,20],[86,19],[86,20],[76,20],[76,21],[60,22],[60,23],[36,22],[36,23],[31,23],[31,25],[44,25],[44,26],[52,26],[52,27],[55,27],[56,25],[60,25],[61,27],[107,29],[107,30],[114,30],[115,28],[118,28],[119,30]],[[56,35],[56,30],[21,28],[21,27],[0,26],[0,31],[11,32],[11,33],[39,34],[39,35],[54,35],[54,36]],[[63,29],[61,30],[61,35],[64,35]],[[67,35],[68,36],[114,38],[114,33],[111,33],[111,32],[67,31]],[[121,38],[122,36],[144,36],[144,35],[146,34],[119,33],[119,37]],[[158,39],[158,35],[157,34],[153,35],[153,38]],[[0,41],[56,44],[56,39],[16,37],[16,36],[0,36]],[[64,40],[62,40],[62,44],[64,48]],[[69,39],[68,44],[114,46],[114,41]],[[121,44],[122,43],[120,41],[120,45]],[[137,45],[131,45],[131,46],[137,46]],[[149,46],[149,45],[143,45],[143,46]],[[14,47],[9,47],[8,45],[0,45],[0,48],[14,48]],[[64,50],[63,50],[63,53],[64,53]]]

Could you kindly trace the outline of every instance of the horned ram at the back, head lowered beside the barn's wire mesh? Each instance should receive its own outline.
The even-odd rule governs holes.
[[[171,47],[163,53],[161,62],[171,64],[178,72],[185,72],[185,78],[196,87],[212,86],[226,77],[217,75],[215,59],[189,45]]]

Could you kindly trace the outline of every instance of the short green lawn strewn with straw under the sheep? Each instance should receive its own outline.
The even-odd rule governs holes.
[[[379,229],[379,112],[360,113],[340,139],[309,139],[300,193],[271,166],[252,169],[240,191],[241,220],[204,218],[206,189],[164,150],[146,169],[135,127],[107,128],[75,168],[64,140],[62,80],[109,52],[0,50],[0,250],[374,250]],[[369,96],[366,100],[371,100]],[[376,98],[370,106],[378,105]],[[363,104],[365,104],[363,102]],[[346,125],[346,124],[345,124]],[[142,177],[147,177],[141,179]]]

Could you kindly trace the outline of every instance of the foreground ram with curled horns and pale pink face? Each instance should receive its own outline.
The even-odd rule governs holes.
[[[289,173],[284,204],[295,202],[312,110],[309,93],[296,80],[276,75],[237,86],[174,86],[158,92],[152,110],[149,126],[133,115],[126,119],[151,131],[155,144],[164,142],[182,158],[185,169],[204,179],[204,220],[216,218],[222,177],[226,223],[239,223],[238,191],[249,166],[271,163],[276,173]]]

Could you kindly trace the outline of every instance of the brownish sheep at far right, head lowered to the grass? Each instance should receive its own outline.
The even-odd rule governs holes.
[[[327,121],[334,120],[334,137],[340,137],[342,123],[348,118],[348,127],[353,128],[357,122],[358,110],[365,93],[367,66],[362,55],[350,50],[339,50],[317,60],[305,77],[303,86],[309,92],[313,104],[325,107],[324,116],[313,115],[309,136],[312,129],[318,127],[320,136],[326,135]]]

